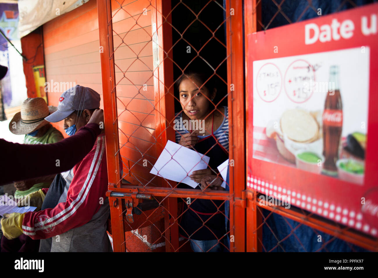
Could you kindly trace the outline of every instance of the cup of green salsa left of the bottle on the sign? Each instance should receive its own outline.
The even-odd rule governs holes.
[[[320,163],[321,162],[321,163]],[[297,151],[295,154],[295,164],[298,169],[320,174],[324,157],[311,151]]]

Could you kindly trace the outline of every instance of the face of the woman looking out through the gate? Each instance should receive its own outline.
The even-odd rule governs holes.
[[[210,99],[214,99],[217,92],[217,89],[214,89],[210,94],[204,86],[200,88],[201,85],[194,78],[185,78],[178,88],[181,107],[191,120],[203,120],[208,115]]]

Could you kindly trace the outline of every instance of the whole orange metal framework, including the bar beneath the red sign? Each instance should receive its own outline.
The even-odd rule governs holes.
[[[101,71],[105,111],[105,138],[108,163],[108,180],[112,234],[115,252],[125,252],[124,232],[124,208],[122,200],[131,203],[137,202],[141,194],[144,196],[162,196],[164,208],[173,217],[165,214],[164,237],[166,239],[166,251],[178,250],[178,227],[174,223],[177,217],[176,198],[191,197],[201,199],[229,200],[230,201],[230,235],[234,235],[231,242],[231,251],[262,251],[262,214],[259,212],[262,206],[257,200],[257,192],[246,189],[246,126],[248,119],[246,111],[252,109],[246,101],[245,87],[250,82],[246,76],[246,62],[244,61],[245,51],[248,51],[248,42],[244,40],[248,34],[260,31],[258,20],[261,20],[261,5],[259,0],[242,1],[227,0],[226,11],[234,9],[234,15],[228,16],[226,20],[226,41],[227,41],[227,72],[228,85],[234,85],[235,91],[228,92],[229,107],[229,158],[234,159],[235,167],[230,167],[230,191],[203,193],[189,189],[171,189],[166,181],[161,181],[159,187],[141,185],[122,185],[119,182],[119,161],[118,161],[118,123],[115,90],[115,66],[113,51],[113,30],[112,11],[110,0],[97,0],[100,45],[104,48],[101,53]],[[158,67],[153,69],[156,123],[157,153],[160,153],[167,140],[174,141],[174,134],[167,126],[174,115],[173,97],[167,94],[167,90],[173,84],[172,64],[172,37],[171,37],[171,15],[170,1],[152,0],[153,23],[157,27],[158,61],[162,61]],[[257,8],[255,8],[257,7]],[[164,59],[170,57],[170,59]],[[241,74],[243,73],[243,74]],[[369,250],[378,250],[378,242],[372,238],[355,233],[348,228],[342,228],[337,224],[325,223],[313,215],[305,215],[295,210],[282,210],[279,207],[263,206],[271,213],[278,213],[282,216],[296,220],[319,231],[328,233],[347,242],[359,245]]]

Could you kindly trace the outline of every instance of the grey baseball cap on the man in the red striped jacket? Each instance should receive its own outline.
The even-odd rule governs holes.
[[[100,95],[88,87],[76,85],[62,93],[58,102],[58,110],[45,118],[56,123],[70,116],[74,111],[95,109],[100,107]]]

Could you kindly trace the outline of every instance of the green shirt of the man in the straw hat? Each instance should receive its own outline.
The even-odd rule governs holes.
[[[55,127],[51,126],[50,129],[48,129],[47,132],[41,137],[33,137],[26,134],[24,138],[24,144],[53,144],[53,143],[59,142],[62,139],[63,139],[62,133],[59,130],[57,130]],[[50,182],[36,183],[28,190],[25,190],[25,191],[16,190],[14,195],[25,196],[39,189],[48,188],[48,187],[50,187]]]

